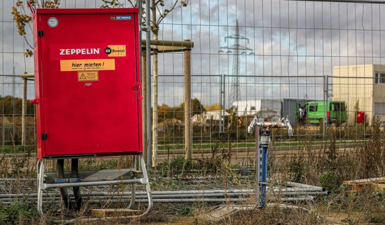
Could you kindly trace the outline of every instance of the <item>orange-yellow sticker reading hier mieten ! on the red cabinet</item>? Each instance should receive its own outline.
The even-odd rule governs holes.
[[[115,70],[115,59],[60,60],[60,71]]]

